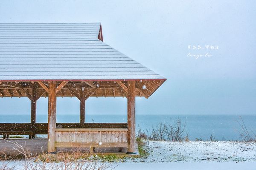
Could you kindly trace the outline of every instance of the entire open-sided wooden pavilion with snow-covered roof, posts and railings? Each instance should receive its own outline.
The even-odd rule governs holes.
[[[56,147],[136,153],[135,97],[148,98],[165,80],[105,44],[100,23],[0,24],[0,97],[31,100],[31,122],[0,123],[4,138],[48,134],[49,153]],[[42,96],[49,101],[48,123],[36,122]],[[80,123],[56,123],[56,98],[66,96],[80,100]],[[127,123],[85,123],[85,101],[92,96],[127,97]]]

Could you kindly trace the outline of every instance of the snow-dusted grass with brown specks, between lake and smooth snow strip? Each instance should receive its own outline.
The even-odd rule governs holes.
[[[198,162],[256,161],[256,142],[147,141],[147,158],[125,159],[128,162]]]

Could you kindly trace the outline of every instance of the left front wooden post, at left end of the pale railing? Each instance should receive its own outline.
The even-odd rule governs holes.
[[[56,82],[49,82],[48,93],[48,153],[55,153],[55,128],[56,128]]]

